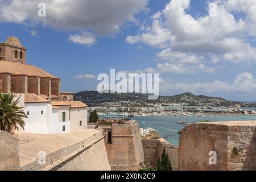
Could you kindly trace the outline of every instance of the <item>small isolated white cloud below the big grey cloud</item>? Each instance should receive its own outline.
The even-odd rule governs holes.
[[[70,35],[69,40],[73,43],[82,44],[84,46],[90,46],[96,42],[96,39],[89,32],[85,32],[82,35]]]

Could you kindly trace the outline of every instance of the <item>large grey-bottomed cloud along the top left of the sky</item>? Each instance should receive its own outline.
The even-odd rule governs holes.
[[[38,4],[46,3],[46,17],[38,16]],[[147,0],[0,0],[0,22],[43,24],[57,30],[115,34],[134,15],[147,7]]]

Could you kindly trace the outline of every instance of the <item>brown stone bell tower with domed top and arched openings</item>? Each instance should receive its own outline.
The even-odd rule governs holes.
[[[0,61],[26,64],[26,51],[18,38],[10,36],[5,43],[0,43]]]

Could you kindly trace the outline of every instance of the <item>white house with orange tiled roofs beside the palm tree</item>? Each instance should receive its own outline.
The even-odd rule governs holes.
[[[25,94],[26,133],[63,134],[87,128],[88,107],[80,101],[48,101]]]

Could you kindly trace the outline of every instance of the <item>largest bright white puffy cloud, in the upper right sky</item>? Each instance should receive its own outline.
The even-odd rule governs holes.
[[[208,15],[194,18],[187,13],[190,0],[171,0],[162,11],[151,16],[137,35],[127,36],[130,44],[144,43],[162,48],[156,58],[164,60],[170,72],[214,69],[216,63],[256,63],[256,48],[248,39],[256,36],[255,0],[215,0],[208,4]],[[240,19],[234,14],[243,13]],[[247,39],[248,38],[248,39]],[[210,60],[212,59],[212,60]],[[182,64],[182,65],[181,65]],[[184,68],[191,68],[187,71]]]

